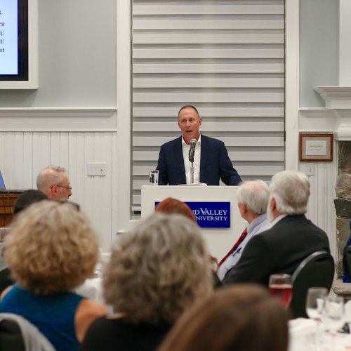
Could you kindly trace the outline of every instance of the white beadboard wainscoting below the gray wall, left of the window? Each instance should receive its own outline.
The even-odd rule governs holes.
[[[89,124],[92,115],[95,122]],[[6,129],[0,131],[0,169],[6,187],[36,189],[41,169],[49,164],[65,167],[70,199],[90,218],[103,249],[110,248],[117,232],[116,118],[113,109],[0,110],[0,124]],[[105,162],[106,176],[87,176],[91,161]]]

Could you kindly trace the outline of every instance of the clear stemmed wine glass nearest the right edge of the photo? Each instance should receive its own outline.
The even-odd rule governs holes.
[[[334,350],[336,331],[344,325],[344,299],[340,296],[327,296],[325,298],[322,321],[326,330],[331,333],[332,350]]]

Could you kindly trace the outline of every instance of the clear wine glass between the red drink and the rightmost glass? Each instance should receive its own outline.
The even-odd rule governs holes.
[[[316,333],[316,351],[321,350],[320,343],[320,323],[322,321],[322,312],[324,309],[325,298],[328,296],[326,288],[310,288],[307,290],[306,312],[307,316],[317,322]]]

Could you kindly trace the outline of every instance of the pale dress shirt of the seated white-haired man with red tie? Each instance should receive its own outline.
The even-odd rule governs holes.
[[[234,265],[238,263],[239,259],[241,258],[241,253],[243,253],[244,248],[246,244],[249,242],[249,240],[253,238],[255,235],[270,229],[270,227],[272,227],[272,223],[268,222],[266,213],[263,213],[263,215],[256,217],[249,224],[249,226],[246,228],[247,230],[246,238],[241,242],[237,250],[234,251],[232,255],[228,256],[227,259],[218,268],[217,275],[220,280],[223,280],[228,270],[231,270],[232,267],[234,267]]]

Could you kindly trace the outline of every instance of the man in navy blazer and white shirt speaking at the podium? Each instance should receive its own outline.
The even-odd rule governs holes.
[[[180,109],[178,126],[183,136],[161,146],[157,164],[159,185],[219,185],[220,179],[226,185],[241,183],[224,143],[200,134],[201,122],[194,106],[186,105]],[[191,167],[190,159],[193,160],[194,168]]]

